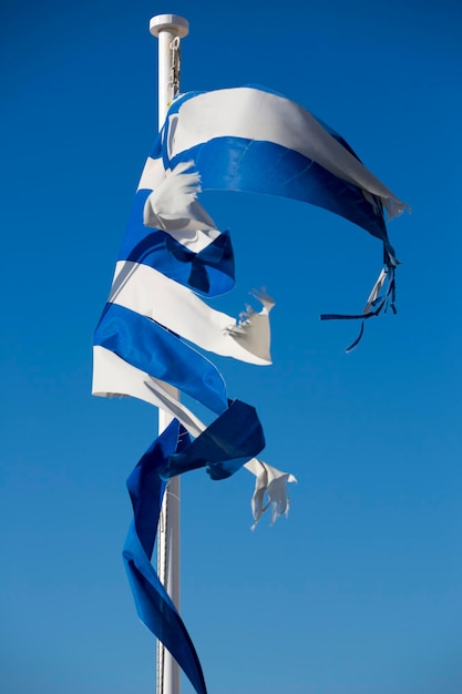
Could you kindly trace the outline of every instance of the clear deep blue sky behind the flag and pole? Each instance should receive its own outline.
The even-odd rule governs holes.
[[[212,194],[236,316],[266,286],[270,367],[216,359],[292,472],[255,532],[246,471],[182,482],[181,613],[209,693],[462,691],[462,11],[455,1],[12,2],[1,10],[0,688],[153,692],[121,551],[157,412],[91,396],[92,335],[157,130],[151,17],[188,19],[182,91],[259,83],[339,131],[411,205],[398,315],[352,323],[380,243],[294,201]],[[188,694],[191,685],[183,684]]]

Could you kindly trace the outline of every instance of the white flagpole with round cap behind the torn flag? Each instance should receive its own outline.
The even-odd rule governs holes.
[[[168,104],[179,90],[179,40],[187,35],[189,23],[178,14],[156,14],[150,32],[158,39],[158,130]],[[176,389],[170,388],[176,398]],[[158,432],[172,417],[158,411]],[[168,481],[162,503],[157,533],[157,573],[176,609],[179,610],[179,476]],[[181,670],[164,645],[157,641],[156,693],[179,694]]]

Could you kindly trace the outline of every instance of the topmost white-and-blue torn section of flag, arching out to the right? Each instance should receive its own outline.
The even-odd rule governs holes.
[[[299,104],[254,85],[189,92],[172,104],[152,156],[162,159],[167,171],[193,161],[203,190],[251,191],[308,202],[380,238],[384,267],[371,290],[374,300],[369,298],[361,314],[320,316],[362,320],[359,337],[347,351],[359,343],[367,318],[389,305],[396,313],[399,261],[383,213],[391,220],[409,205],[363,166],[341,135]]]

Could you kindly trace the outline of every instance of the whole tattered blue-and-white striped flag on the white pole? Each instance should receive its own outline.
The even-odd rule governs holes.
[[[398,261],[384,211],[391,218],[407,207],[332,129],[260,86],[178,96],[147,157],[94,333],[92,392],[138,398],[173,418],[129,478],[134,521],[123,555],[141,619],[198,694],[205,694],[205,683],[197,654],[151,564],[165,483],[198,468],[219,480],[244,467],[255,476],[255,528],[267,510],[271,522],[288,513],[287,483],[296,481],[257,457],[265,438],[256,410],[229,397],[206,356],[270,365],[275,303],[265,292],[254,292],[259,306],[247,306],[238,318],[207,304],[234,286],[235,261],[229,233],[219,231],[198,202],[203,190],[307,202],[379,238],[383,271],[367,310],[350,316],[362,318],[378,315],[394,297]],[[330,317],[339,316],[325,316]],[[208,426],[182,395],[211,412]]]

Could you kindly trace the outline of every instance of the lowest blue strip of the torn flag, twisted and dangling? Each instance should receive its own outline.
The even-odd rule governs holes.
[[[123,559],[142,622],[171,652],[197,694],[206,694],[196,650],[152,563],[165,479],[206,467],[212,479],[225,479],[265,446],[253,407],[234,400],[194,441],[174,419],[144,453],[127,479],[134,520]]]

